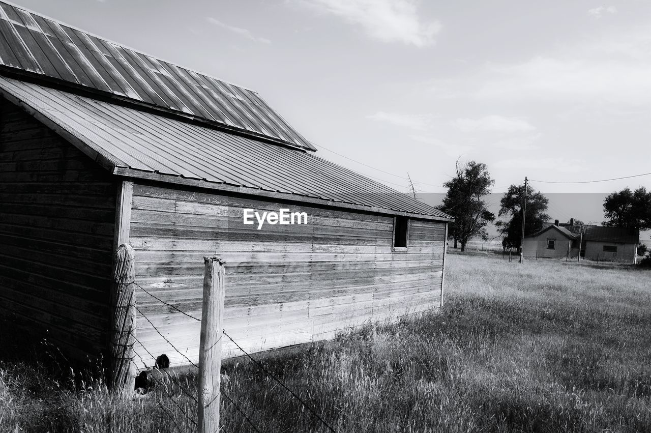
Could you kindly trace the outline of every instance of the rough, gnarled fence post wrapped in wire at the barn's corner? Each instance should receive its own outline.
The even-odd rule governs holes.
[[[130,245],[122,244],[113,257],[113,284],[111,288],[111,389],[133,393],[135,363],[135,255]]]

